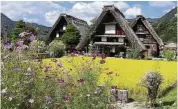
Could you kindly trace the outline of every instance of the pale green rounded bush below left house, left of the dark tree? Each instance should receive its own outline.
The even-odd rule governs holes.
[[[58,58],[65,54],[65,45],[60,40],[53,40],[48,47],[50,57]]]

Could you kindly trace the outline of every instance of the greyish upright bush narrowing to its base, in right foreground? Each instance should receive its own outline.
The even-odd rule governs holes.
[[[156,98],[162,81],[163,77],[159,72],[148,72],[141,79],[141,85],[147,88],[147,97],[151,103],[151,107],[156,105]]]

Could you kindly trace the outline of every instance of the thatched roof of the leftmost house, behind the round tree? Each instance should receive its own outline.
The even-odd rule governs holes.
[[[89,25],[87,24],[86,21],[73,17],[71,15],[67,15],[65,13],[60,14],[59,18],[57,19],[57,21],[55,22],[55,24],[53,25],[52,29],[50,30],[50,32],[48,33],[48,38],[50,38],[52,32],[55,30],[55,28],[57,27],[57,25],[59,24],[60,20],[64,18],[67,22],[67,24],[72,24],[73,26],[75,26],[78,31],[80,32],[81,36],[84,36],[86,31],[89,28]]]

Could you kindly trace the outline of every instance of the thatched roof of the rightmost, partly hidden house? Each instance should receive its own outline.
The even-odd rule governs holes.
[[[138,20],[141,20],[141,22],[145,25],[145,27],[148,29],[148,31],[150,32],[150,34],[154,37],[154,39],[157,41],[157,43],[159,44],[159,46],[163,46],[164,43],[163,41],[161,40],[161,38],[159,38],[159,36],[157,35],[157,33],[154,31],[153,27],[151,26],[151,24],[148,22],[148,20],[142,16],[142,15],[138,15],[136,20],[131,22],[131,27],[133,28]]]

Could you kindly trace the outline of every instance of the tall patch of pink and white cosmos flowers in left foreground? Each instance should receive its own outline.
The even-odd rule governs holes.
[[[25,48],[24,48],[25,46]],[[75,59],[75,54],[66,63],[73,68],[65,68],[60,59],[51,59],[55,64],[44,65],[33,59],[37,53],[35,46],[27,46],[19,41],[13,51],[5,47],[2,55],[2,108],[3,109],[106,109],[111,104],[110,79],[98,84],[102,63],[95,59]],[[2,48],[4,50],[4,48]],[[80,63],[75,65],[74,63]],[[110,74],[110,73],[109,73]]]

